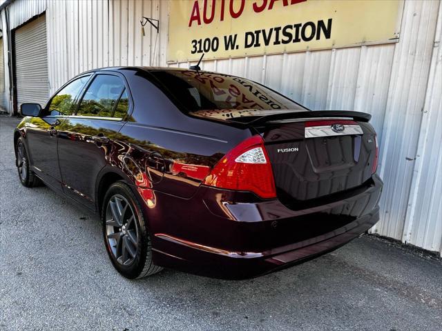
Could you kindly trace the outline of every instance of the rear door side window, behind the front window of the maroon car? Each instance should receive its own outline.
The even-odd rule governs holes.
[[[121,78],[99,74],[79,104],[77,115],[122,119],[128,111],[128,96]]]

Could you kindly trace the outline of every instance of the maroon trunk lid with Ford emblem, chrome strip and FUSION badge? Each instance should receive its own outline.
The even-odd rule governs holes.
[[[278,199],[293,208],[361,187],[376,162],[369,114],[318,113],[251,122],[265,140]]]

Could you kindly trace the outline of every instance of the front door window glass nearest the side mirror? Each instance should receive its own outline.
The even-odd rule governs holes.
[[[70,115],[75,103],[75,97],[89,80],[88,76],[83,76],[71,81],[62,88],[50,101],[46,115]]]

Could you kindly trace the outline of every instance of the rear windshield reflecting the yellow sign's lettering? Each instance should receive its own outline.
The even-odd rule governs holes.
[[[199,110],[306,110],[294,101],[244,78],[210,72],[151,71],[163,90],[188,112]]]

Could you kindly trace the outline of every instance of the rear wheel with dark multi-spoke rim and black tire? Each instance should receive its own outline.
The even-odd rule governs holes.
[[[103,237],[115,269],[128,279],[162,270],[153,263],[146,217],[131,188],[122,181],[108,188],[102,205]]]

